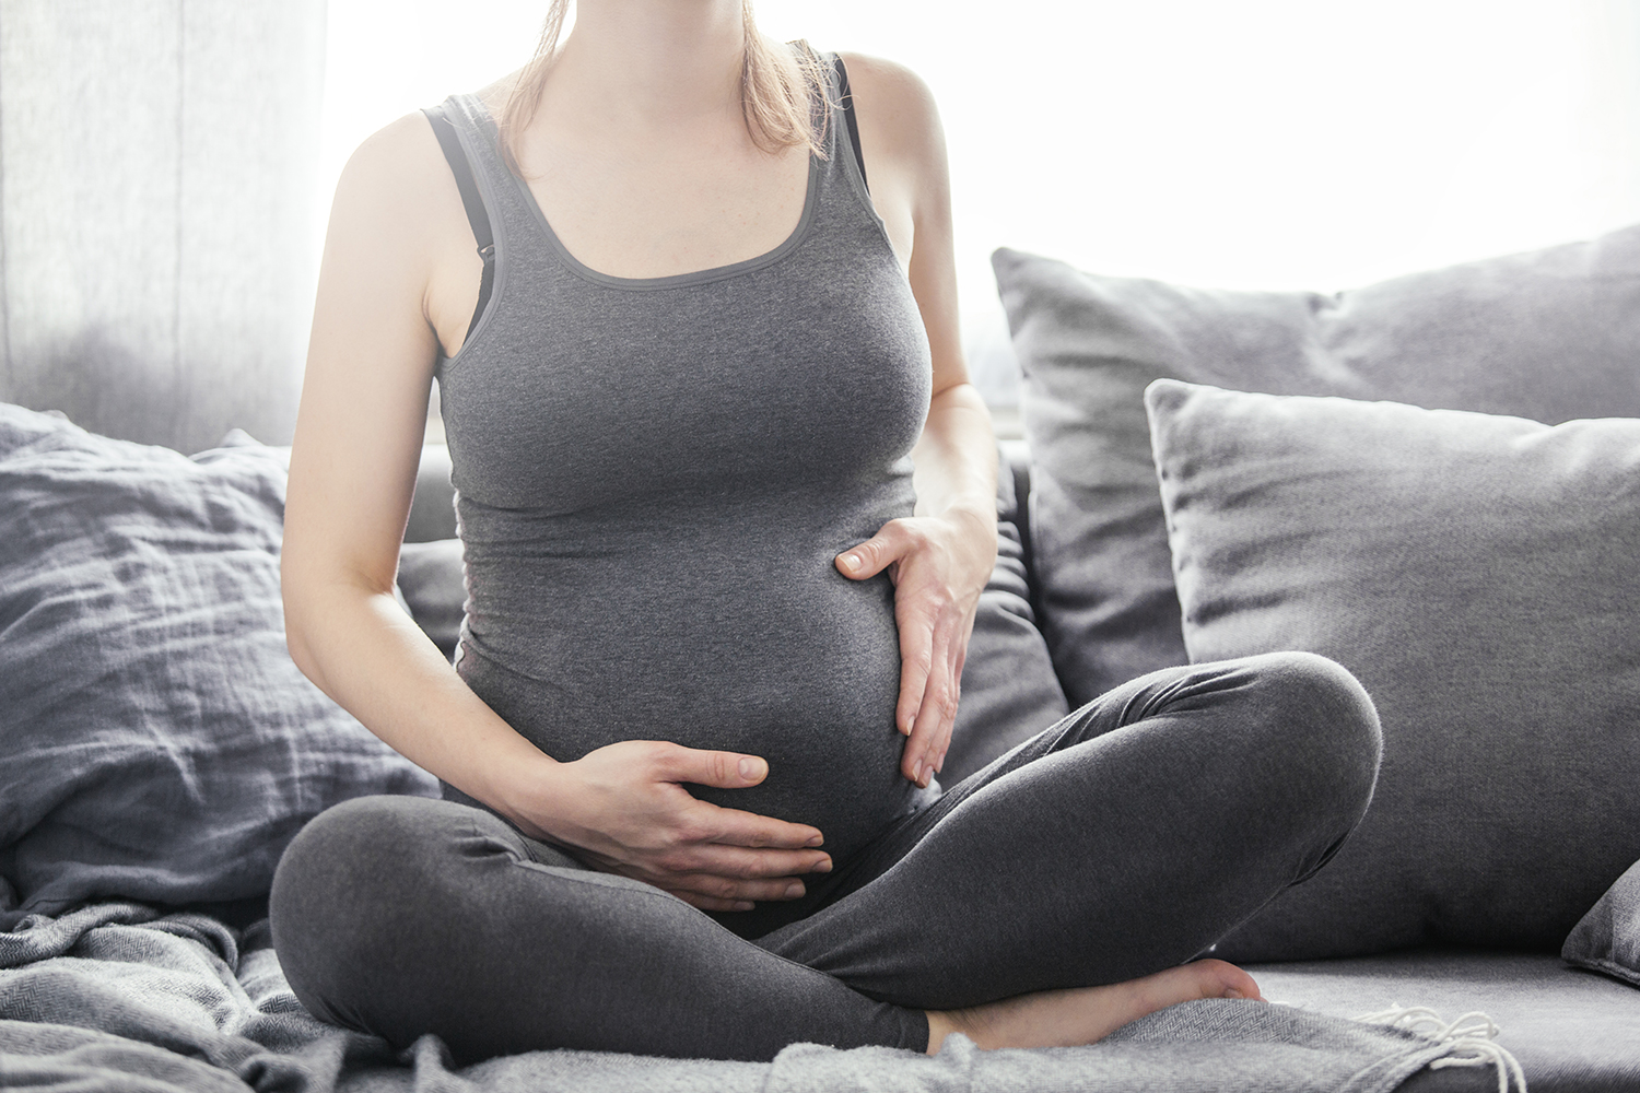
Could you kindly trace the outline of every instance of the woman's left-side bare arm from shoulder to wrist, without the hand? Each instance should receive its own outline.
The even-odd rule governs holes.
[[[440,351],[425,302],[451,229],[417,123],[426,128],[408,116],[366,141],[336,187],[290,451],[285,637],[297,665],[371,731],[497,801],[512,791],[507,777],[543,755],[456,678],[392,596]]]

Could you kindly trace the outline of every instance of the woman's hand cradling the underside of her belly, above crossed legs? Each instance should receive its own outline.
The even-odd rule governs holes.
[[[512,813],[541,839],[567,842],[590,865],[664,888],[707,911],[795,900],[802,877],[831,870],[822,834],[689,795],[682,783],[743,790],[763,782],[758,755],[666,741],[622,741],[558,764]],[[544,790],[544,791],[543,791]]]

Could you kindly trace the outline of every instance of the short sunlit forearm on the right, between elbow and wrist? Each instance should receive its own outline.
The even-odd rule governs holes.
[[[954,383],[933,397],[912,462],[918,516],[977,518],[995,536],[997,439],[973,383]]]

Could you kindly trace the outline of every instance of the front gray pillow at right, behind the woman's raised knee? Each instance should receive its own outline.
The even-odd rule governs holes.
[[[1384,731],[1360,828],[1219,955],[1558,950],[1640,859],[1640,421],[1146,405],[1191,660],[1319,652]]]

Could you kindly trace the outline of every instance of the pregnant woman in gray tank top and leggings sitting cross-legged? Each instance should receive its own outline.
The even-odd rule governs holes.
[[[941,791],[995,456],[928,92],[741,0],[561,20],[336,192],[290,651],[446,790],[292,842],[297,996],[464,1060],[1086,1044],[1256,1000],[1192,957],[1360,819],[1366,695],[1304,654],[1181,667]],[[435,377],[454,669],[392,595]]]

